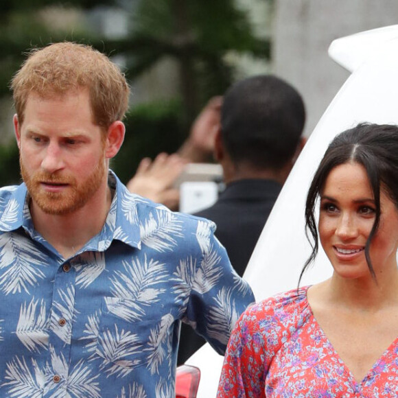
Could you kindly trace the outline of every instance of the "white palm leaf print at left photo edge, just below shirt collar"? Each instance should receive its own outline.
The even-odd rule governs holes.
[[[28,239],[13,233],[0,235],[0,290],[4,294],[30,294],[29,287],[38,284],[44,274],[40,267],[47,266],[43,253],[36,249]],[[4,270],[6,268],[6,270]]]

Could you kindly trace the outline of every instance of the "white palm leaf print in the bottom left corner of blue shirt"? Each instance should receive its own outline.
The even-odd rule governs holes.
[[[42,398],[45,386],[45,371],[38,367],[36,360],[32,359],[34,373],[25,362],[25,358],[15,357],[6,364],[4,382],[1,386],[9,386],[10,398]]]

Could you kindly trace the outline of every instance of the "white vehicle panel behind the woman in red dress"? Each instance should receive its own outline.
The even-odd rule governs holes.
[[[367,48],[366,41],[370,43]],[[361,121],[398,124],[398,25],[335,40],[331,53],[353,73],[309,137],[250,258],[244,279],[257,301],[297,286],[301,268],[311,253],[304,233],[307,189],[331,139]],[[320,247],[301,285],[327,279],[331,272]],[[200,368],[198,398],[215,397],[222,360],[206,344],[186,362]]]

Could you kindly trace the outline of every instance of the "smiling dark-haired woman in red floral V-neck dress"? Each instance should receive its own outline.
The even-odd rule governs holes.
[[[316,225],[316,205],[319,218]],[[333,139],[309,187],[306,232],[330,279],[246,309],[218,398],[398,397],[398,126]]]

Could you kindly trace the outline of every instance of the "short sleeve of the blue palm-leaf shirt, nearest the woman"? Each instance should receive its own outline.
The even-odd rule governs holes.
[[[248,283],[233,270],[214,229],[213,222],[198,221],[196,239],[202,257],[196,261],[185,321],[224,355],[237,319],[255,298]]]

